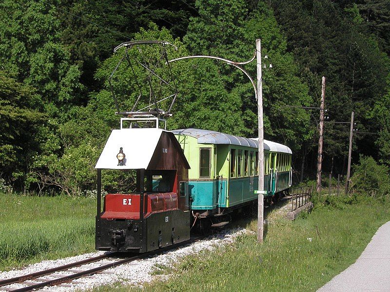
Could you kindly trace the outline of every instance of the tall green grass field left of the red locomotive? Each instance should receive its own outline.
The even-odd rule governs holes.
[[[0,270],[95,250],[94,199],[0,194]]]

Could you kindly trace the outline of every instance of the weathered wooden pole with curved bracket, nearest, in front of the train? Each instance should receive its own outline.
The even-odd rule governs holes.
[[[256,39],[257,61],[257,114],[259,135],[259,185],[257,198],[257,241],[263,242],[264,236],[264,129],[263,129],[263,85],[261,75],[261,42]]]

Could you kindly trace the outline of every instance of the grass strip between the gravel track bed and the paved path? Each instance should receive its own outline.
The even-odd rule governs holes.
[[[316,202],[311,214],[287,221],[269,216],[262,245],[256,235],[214,252],[188,256],[174,268],[159,267],[158,278],[144,291],[316,291],[340,273],[364,250],[379,226],[390,220],[389,204],[363,197],[328,198]],[[242,222],[256,231],[256,220]],[[103,286],[95,292],[140,291]]]

